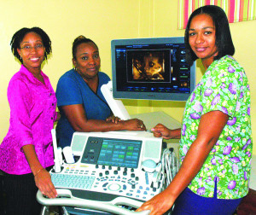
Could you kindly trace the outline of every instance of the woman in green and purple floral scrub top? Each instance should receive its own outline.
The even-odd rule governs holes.
[[[182,165],[172,183],[137,211],[163,214],[233,214],[248,193],[253,150],[250,89],[224,10],[196,9],[185,31],[186,59],[201,59],[206,73],[190,95],[183,127],[153,129],[155,137],[181,138]]]

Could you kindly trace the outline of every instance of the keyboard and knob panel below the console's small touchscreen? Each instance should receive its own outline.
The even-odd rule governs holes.
[[[163,189],[162,177],[158,183],[148,180],[145,171],[114,166],[65,166],[59,173],[50,172],[55,188],[70,189],[79,198],[90,200],[113,200],[124,196],[146,201],[159,194]]]

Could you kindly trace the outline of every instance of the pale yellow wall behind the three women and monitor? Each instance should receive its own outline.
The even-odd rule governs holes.
[[[111,76],[110,42],[115,38],[152,38],[183,36],[177,30],[177,3],[170,0],[0,0],[0,142],[9,128],[7,87],[18,71],[9,47],[13,34],[21,27],[40,26],[52,40],[53,54],[44,64],[55,89],[61,74],[72,67],[73,39],[83,34],[100,49],[102,71]],[[253,137],[256,132],[256,20],[230,24],[236,47],[235,58],[245,68],[252,91]],[[201,78],[198,67],[197,80]],[[129,113],[165,111],[181,121],[184,102],[123,101]],[[253,148],[256,154],[256,147]]]

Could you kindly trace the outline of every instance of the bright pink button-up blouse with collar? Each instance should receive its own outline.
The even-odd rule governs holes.
[[[21,65],[9,82],[9,131],[0,145],[0,169],[9,174],[32,172],[22,151],[27,144],[34,145],[44,168],[54,165],[50,131],[57,116],[56,97],[49,78],[41,74],[45,84]]]

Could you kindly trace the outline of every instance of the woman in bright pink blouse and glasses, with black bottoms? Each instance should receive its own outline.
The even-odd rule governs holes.
[[[38,189],[49,198],[57,195],[47,169],[54,165],[50,131],[58,113],[55,91],[41,71],[51,41],[32,27],[15,32],[10,44],[21,67],[9,82],[9,131],[0,145],[6,214],[39,214]]]

